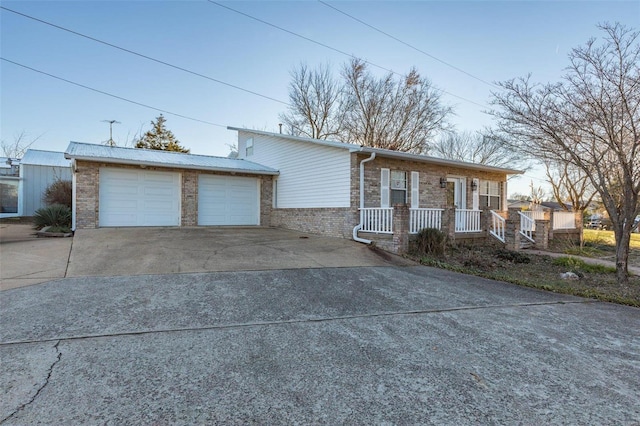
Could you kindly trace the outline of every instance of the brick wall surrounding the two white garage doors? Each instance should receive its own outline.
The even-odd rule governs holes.
[[[76,228],[97,228],[99,218],[99,186],[100,167],[139,170],[139,166],[115,165],[78,161],[76,163]],[[178,172],[181,175],[181,225],[195,226],[198,224],[198,176],[201,174],[229,175],[191,169],[174,169],[167,167],[147,167],[145,170]],[[236,173],[234,176],[256,177],[255,175]],[[260,189],[260,224],[269,226],[272,206],[272,177],[261,176]]]

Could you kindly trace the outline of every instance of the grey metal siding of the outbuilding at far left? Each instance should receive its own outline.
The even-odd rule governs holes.
[[[45,207],[42,195],[49,185],[57,180],[71,180],[71,167],[20,166],[22,177],[22,215],[33,216],[36,210]]]

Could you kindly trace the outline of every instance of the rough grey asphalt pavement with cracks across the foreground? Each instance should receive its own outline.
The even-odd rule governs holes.
[[[0,423],[640,422],[640,310],[427,267],[0,294]]]

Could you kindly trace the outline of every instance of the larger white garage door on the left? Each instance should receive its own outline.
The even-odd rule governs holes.
[[[100,226],[179,226],[180,174],[100,169]]]

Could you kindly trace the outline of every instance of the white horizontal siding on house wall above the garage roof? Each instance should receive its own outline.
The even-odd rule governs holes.
[[[253,139],[253,155],[245,141]],[[278,208],[349,207],[351,159],[343,148],[291,141],[275,136],[238,133],[238,158],[280,171]]]

